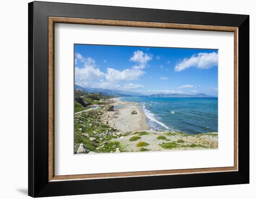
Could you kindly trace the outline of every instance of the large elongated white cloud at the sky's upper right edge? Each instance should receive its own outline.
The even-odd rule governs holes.
[[[218,65],[218,53],[198,53],[192,55],[190,58],[184,58],[175,65],[175,71],[180,72],[189,67],[196,67],[200,69],[209,69]]]

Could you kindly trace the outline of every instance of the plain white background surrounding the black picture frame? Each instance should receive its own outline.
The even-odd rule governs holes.
[[[52,0],[48,0],[52,1]],[[250,184],[195,187],[141,192],[106,193],[65,198],[255,198],[256,188],[256,13],[252,0],[56,0],[124,7],[145,7],[250,15]],[[27,197],[27,3],[28,0],[0,2],[0,196]],[[254,56],[253,56],[254,55]],[[18,102],[18,104],[16,104]],[[64,198],[64,197],[59,197]]]

